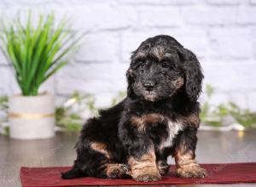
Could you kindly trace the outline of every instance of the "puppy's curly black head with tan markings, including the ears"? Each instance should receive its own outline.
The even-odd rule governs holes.
[[[201,93],[201,65],[195,54],[173,37],[148,38],[131,55],[128,96],[148,101],[172,98],[184,88],[191,101]]]

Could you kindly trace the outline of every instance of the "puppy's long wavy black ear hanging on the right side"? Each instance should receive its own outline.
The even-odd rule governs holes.
[[[196,101],[201,94],[203,74],[201,65],[195,54],[186,48],[177,48],[179,58],[183,63],[183,71],[186,79],[186,93],[191,101]]]

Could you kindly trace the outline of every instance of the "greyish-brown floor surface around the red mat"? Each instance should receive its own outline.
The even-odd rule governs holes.
[[[77,136],[76,133],[58,133],[54,139],[29,141],[0,136],[0,187],[20,186],[21,166],[71,165],[75,157],[73,146]],[[199,132],[198,137],[196,155],[199,162],[256,161],[256,131]],[[256,186],[256,184],[204,184],[203,186]]]

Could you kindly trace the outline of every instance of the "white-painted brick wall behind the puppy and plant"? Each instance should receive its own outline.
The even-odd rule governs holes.
[[[231,99],[256,110],[255,5],[255,0],[0,0],[0,15],[54,9],[57,19],[73,19],[74,30],[89,31],[71,64],[42,88],[60,98],[79,90],[108,105],[126,88],[131,51],[148,37],[168,34],[199,57],[204,82],[217,88],[213,103]],[[0,94],[17,92],[0,54]]]

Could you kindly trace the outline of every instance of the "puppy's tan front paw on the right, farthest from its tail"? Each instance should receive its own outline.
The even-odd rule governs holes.
[[[195,165],[192,167],[179,167],[175,171],[175,174],[177,177],[182,178],[206,178],[207,170],[199,165]]]

